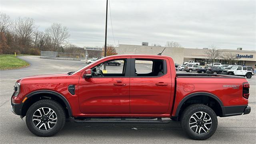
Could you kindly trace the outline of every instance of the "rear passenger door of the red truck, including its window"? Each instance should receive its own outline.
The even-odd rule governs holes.
[[[130,113],[165,114],[172,88],[168,59],[132,57],[130,75]]]

